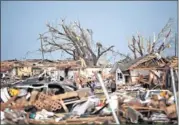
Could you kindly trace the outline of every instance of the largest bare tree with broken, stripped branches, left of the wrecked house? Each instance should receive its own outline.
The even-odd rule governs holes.
[[[82,58],[87,65],[96,65],[99,58],[110,51],[114,46],[106,49],[101,43],[96,43],[97,53],[93,45],[93,32],[81,27],[79,21],[65,24],[62,20],[60,28],[47,24],[48,32],[42,35],[44,52],[61,50],[73,56],[75,60]]]

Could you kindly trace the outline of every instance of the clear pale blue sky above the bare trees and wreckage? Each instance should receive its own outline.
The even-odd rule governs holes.
[[[170,17],[177,20],[177,1],[1,1],[1,59],[41,58],[39,33],[47,31],[46,22],[57,24],[60,18],[80,20],[92,29],[94,40],[115,45],[129,53],[127,38],[139,31],[144,37],[158,33]],[[59,59],[59,52],[48,54]]]

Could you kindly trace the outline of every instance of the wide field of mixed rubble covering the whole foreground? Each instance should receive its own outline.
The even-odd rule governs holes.
[[[138,83],[131,84],[118,79],[116,91],[111,92],[109,83],[118,78],[116,74],[103,74],[103,86],[97,71],[86,76],[83,72],[83,77],[74,72],[73,78],[58,81],[49,79],[52,74],[46,70],[39,77],[1,86],[1,123],[114,124],[116,119],[135,124],[177,122],[176,98],[171,89],[146,87],[144,84],[152,82],[140,76]]]

